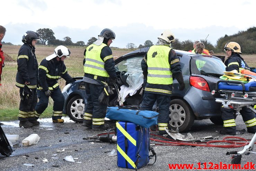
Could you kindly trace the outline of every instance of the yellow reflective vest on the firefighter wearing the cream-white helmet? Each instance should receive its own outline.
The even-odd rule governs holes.
[[[148,83],[165,85],[173,83],[169,64],[170,50],[170,47],[164,45],[153,45],[149,48],[147,54]]]

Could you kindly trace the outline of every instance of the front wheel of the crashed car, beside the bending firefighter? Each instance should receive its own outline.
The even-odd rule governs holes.
[[[72,97],[67,105],[67,114],[69,118],[75,122],[83,122],[83,114],[85,109],[85,103],[81,96],[77,95]]]

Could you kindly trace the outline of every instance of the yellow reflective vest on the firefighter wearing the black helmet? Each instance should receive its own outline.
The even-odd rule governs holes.
[[[105,62],[100,58],[101,50],[105,46],[107,45],[104,43],[99,46],[91,44],[86,48],[85,65],[83,67],[85,73],[109,77],[107,71],[104,69]],[[106,58],[106,60],[107,59],[108,58]]]

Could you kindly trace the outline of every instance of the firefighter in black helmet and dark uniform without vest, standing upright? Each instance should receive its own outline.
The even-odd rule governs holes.
[[[39,125],[39,122],[35,119],[34,109],[37,103],[36,85],[38,63],[35,55],[35,45],[37,40],[39,40],[38,33],[27,31],[22,37],[22,42],[24,44],[20,47],[17,57],[18,72],[16,74],[16,86],[20,88],[19,93],[21,97],[18,114],[20,127]],[[23,95],[23,90],[26,90],[27,88],[31,92],[26,98]]]

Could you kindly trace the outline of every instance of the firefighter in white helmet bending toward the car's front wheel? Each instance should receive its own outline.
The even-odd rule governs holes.
[[[64,64],[66,57],[69,57],[70,51],[65,46],[58,46],[54,53],[47,56],[39,65],[38,69],[38,88],[37,96],[39,102],[35,107],[36,119],[44,112],[48,106],[49,97],[53,99],[52,121],[55,123],[63,123],[61,119],[64,106],[64,97],[61,93],[58,80],[63,78],[68,83],[74,82],[68,74]]]

